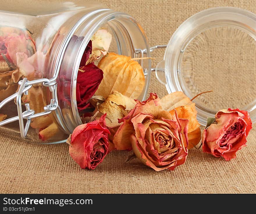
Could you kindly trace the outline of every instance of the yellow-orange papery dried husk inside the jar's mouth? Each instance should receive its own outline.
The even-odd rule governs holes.
[[[141,65],[129,56],[109,53],[98,64],[104,72],[104,78],[96,95],[106,98],[113,91],[137,99],[145,85],[145,76]]]

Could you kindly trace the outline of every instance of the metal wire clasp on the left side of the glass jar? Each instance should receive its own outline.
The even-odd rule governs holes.
[[[37,114],[35,114],[35,111],[33,109],[30,109],[29,103],[25,103],[26,111],[22,112],[22,100],[21,100],[22,95],[23,94],[28,95],[29,89],[32,87],[32,85],[39,84],[39,83],[42,83],[42,85],[45,87],[49,87],[49,90],[52,92],[52,97],[53,97],[51,99],[51,103],[44,107],[44,110],[45,110],[44,112],[40,112]],[[27,78],[24,78],[23,80],[19,81],[19,85],[20,87],[18,92],[4,99],[0,103],[0,109],[1,109],[8,102],[16,98],[18,116],[1,121],[0,126],[19,120],[20,135],[22,139],[25,139],[27,132],[29,130],[29,126],[32,118],[48,115],[52,111],[55,111],[58,108],[57,90],[56,90],[57,84],[56,84],[56,81],[50,81],[47,78],[42,78],[42,79],[33,80],[33,81],[28,81]],[[27,120],[25,127],[24,127],[23,119]]]

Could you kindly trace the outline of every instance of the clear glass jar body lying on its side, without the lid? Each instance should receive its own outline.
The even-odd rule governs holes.
[[[82,124],[76,100],[77,74],[97,29],[107,29],[112,35],[109,51],[131,58],[150,56],[147,37],[136,20],[99,3],[35,6],[29,13],[2,11],[0,18],[4,20],[0,24],[1,131],[20,133],[33,142],[63,142]],[[145,86],[136,98],[142,100],[151,63],[150,59],[138,62]]]

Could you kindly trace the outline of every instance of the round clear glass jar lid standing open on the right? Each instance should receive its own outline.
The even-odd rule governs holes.
[[[256,122],[255,39],[255,14],[233,7],[201,11],[175,31],[157,77],[168,93],[191,99],[212,90],[193,100],[202,125],[227,108],[246,110]]]

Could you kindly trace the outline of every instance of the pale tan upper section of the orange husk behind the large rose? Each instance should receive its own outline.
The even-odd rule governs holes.
[[[166,111],[171,111],[182,105],[191,105],[192,103],[183,92],[173,92],[160,100],[160,105]]]

